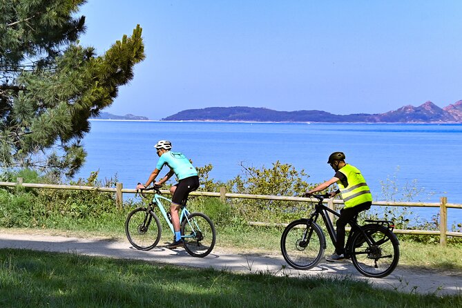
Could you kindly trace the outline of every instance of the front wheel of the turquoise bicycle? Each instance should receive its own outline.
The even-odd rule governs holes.
[[[136,249],[151,250],[160,241],[162,226],[155,213],[148,212],[145,207],[139,207],[128,214],[125,220],[125,234],[128,242]]]

